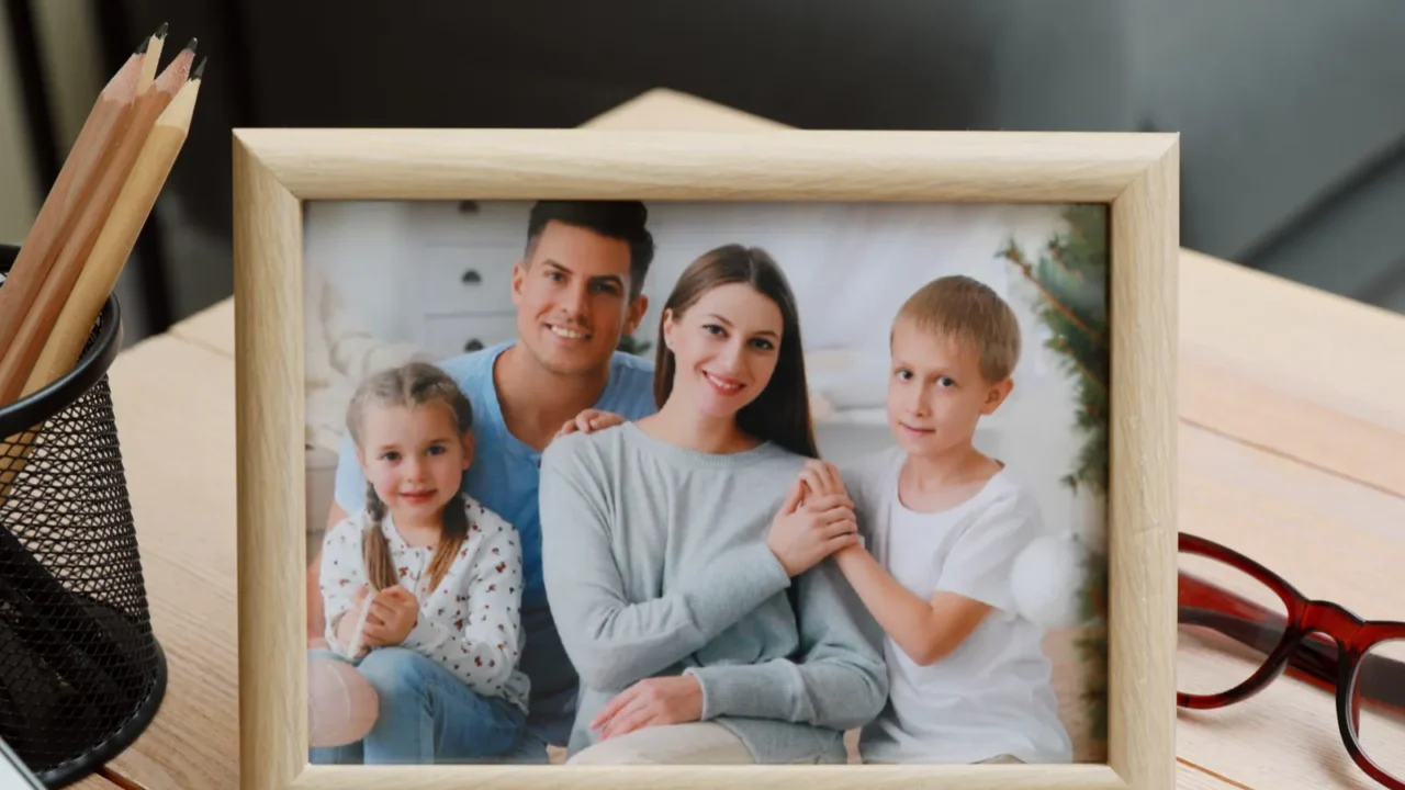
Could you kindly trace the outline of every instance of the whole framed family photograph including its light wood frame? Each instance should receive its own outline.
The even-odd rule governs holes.
[[[1177,146],[236,129],[242,787],[1172,787]]]

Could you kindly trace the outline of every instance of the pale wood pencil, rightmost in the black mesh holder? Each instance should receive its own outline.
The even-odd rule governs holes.
[[[181,86],[176,98],[156,118],[152,134],[142,146],[132,174],[122,186],[122,193],[112,204],[112,212],[103,225],[103,232],[93,245],[87,263],[83,264],[77,281],[73,284],[73,294],[59,312],[53,323],[53,333],[44,344],[34,371],[24,387],[21,398],[28,396],[67,373],[83,351],[84,343],[97,322],[103,304],[117,287],[117,278],[122,273],[136,238],[146,224],[156,197],[160,194],[166,179],[176,164],[176,157],[185,143],[190,132],[191,115],[195,111],[195,98],[200,94],[201,76],[205,72],[205,60],[190,73],[190,80]]]

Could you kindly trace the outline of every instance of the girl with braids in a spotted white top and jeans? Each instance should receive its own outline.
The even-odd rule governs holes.
[[[323,655],[357,668],[378,715],[361,741],[315,748],[312,762],[476,762],[517,742],[521,548],[511,524],[459,491],[472,417],[454,381],[423,363],[372,375],[351,399],[367,507],[323,541]]]

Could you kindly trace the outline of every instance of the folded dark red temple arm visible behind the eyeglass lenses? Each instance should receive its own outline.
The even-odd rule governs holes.
[[[1193,603],[1180,606],[1182,623],[1213,628],[1264,655],[1273,652],[1283,638],[1286,623],[1281,616],[1217,585],[1182,574],[1180,593],[1182,600],[1191,599],[1187,603]],[[1336,665],[1336,642],[1319,634],[1308,634],[1288,656],[1288,666],[1333,687]],[[1367,700],[1405,713],[1405,662],[1366,655],[1357,671],[1357,683]]]

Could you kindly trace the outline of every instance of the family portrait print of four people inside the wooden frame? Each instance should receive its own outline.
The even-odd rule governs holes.
[[[309,762],[1106,762],[1106,205],[303,222]]]

